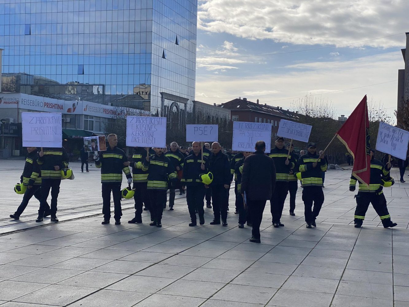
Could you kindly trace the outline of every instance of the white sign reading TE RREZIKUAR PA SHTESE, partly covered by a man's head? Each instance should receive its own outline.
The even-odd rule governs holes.
[[[265,142],[265,152],[270,152],[271,124],[256,122],[233,122],[233,144],[237,151],[254,151],[257,141]]]

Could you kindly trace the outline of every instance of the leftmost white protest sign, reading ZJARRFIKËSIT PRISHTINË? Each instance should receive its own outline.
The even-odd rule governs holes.
[[[24,147],[63,147],[61,113],[22,112]]]

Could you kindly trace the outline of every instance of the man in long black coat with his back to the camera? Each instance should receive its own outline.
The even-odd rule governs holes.
[[[256,142],[256,152],[244,160],[241,193],[245,193],[253,219],[250,242],[260,243],[260,224],[265,203],[271,199],[276,184],[276,168],[272,158],[264,154],[265,142]]]

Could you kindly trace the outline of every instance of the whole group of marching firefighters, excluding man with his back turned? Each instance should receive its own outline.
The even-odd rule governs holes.
[[[253,151],[237,153],[228,156],[223,153],[218,142],[206,143],[193,142],[189,152],[180,150],[176,142],[172,142],[170,150],[164,148],[135,147],[132,161],[128,161],[126,154],[117,147],[117,135],[108,135],[106,151],[100,151],[94,156],[95,166],[101,169],[102,185],[102,224],[110,223],[111,194],[114,202],[115,224],[121,223],[121,198],[135,199],[135,217],[128,223],[142,223],[143,210],[151,213],[151,226],[162,227],[162,212],[166,208],[167,190],[169,190],[169,210],[175,204],[175,188],[184,193],[191,222],[189,226],[197,225],[197,215],[200,225],[205,223],[204,201],[207,208],[213,205],[213,220],[211,225],[222,224],[227,226],[227,211],[229,210],[229,189],[234,180],[236,194],[235,213],[238,214],[238,227],[244,228],[252,225],[252,210],[246,205],[244,191],[241,189],[241,178],[245,159]],[[285,199],[290,193],[290,215],[295,215],[295,197],[298,181],[303,188],[302,200],[304,202],[304,217],[306,227],[316,227],[315,220],[324,203],[323,172],[326,172],[328,162],[322,152],[317,153],[315,143],[308,144],[306,153],[301,151],[301,156],[293,152],[292,143],[285,144],[281,137],[276,138],[275,146],[270,153],[266,153],[274,161],[275,186],[272,187],[270,210],[274,227],[284,226],[281,215]],[[10,217],[19,219],[32,196],[40,201],[37,222],[50,216],[51,221],[58,222],[56,217],[57,199],[61,179],[72,174],[68,172],[68,155],[64,148],[27,147],[25,167],[16,185],[15,191],[24,194],[20,206]],[[130,170],[130,168],[132,171]],[[359,183],[359,191],[355,195],[357,207],[355,210],[355,227],[361,227],[372,203],[385,228],[397,224],[391,221],[387,210],[387,202],[382,192],[384,186],[391,186],[393,178],[389,171],[391,163],[382,164],[373,158],[371,151],[371,179],[369,187]],[[127,178],[128,188],[121,190],[122,173]],[[179,174],[179,180],[178,180]],[[359,178],[351,176],[350,191],[355,191]],[[133,186],[131,187],[131,184]],[[51,191],[51,205],[47,198]],[[127,193],[128,196],[126,196]],[[132,196],[130,196],[132,197]]]

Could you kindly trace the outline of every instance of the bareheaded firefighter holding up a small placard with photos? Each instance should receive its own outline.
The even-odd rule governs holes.
[[[128,158],[124,151],[117,147],[117,135],[108,135],[109,146],[106,151],[100,151],[98,156],[94,156],[95,166],[101,169],[102,184],[102,225],[108,224],[111,218],[111,191],[114,199],[114,219],[115,225],[121,224],[121,183],[122,172],[124,172],[128,185],[132,183],[132,175],[129,170]]]

